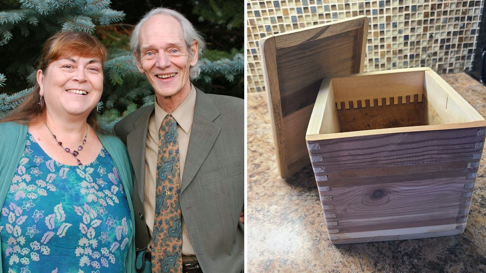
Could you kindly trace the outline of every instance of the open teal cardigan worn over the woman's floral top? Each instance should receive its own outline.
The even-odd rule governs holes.
[[[128,159],[126,146],[116,136],[98,134],[104,148],[113,158],[115,166],[121,178],[121,184],[125,188],[130,216],[132,218],[132,228],[135,224],[133,205],[132,205],[132,169]],[[0,207],[5,202],[10,183],[17,170],[18,162],[25,148],[27,140],[27,126],[15,122],[0,123]],[[134,230],[135,231],[135,230]],[[1,241],[0,241],[1,245]],[[135,234],[132,236],[127,256],[125,258],[125,268],[127,273],[135,272]],[[0,273],[2,272],[2,261],[0,256]]]

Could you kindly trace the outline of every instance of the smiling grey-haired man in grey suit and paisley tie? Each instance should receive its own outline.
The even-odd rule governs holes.
[[[135,172],[138,268],[242,272],[243,100],[191,84],[204,41],[176,11],[147,13],[130,47],[156,97],[115,125]]]

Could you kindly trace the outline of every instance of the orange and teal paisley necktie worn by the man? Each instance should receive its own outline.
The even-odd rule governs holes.
[[[167,115],[158,131],[152,273],[182,273],[182,226],[177,122]]]

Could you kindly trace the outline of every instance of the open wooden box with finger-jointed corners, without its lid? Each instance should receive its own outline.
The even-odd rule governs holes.
[[[485,126],[427,68],[325,79],[306,140],[331,241],[462,233]]]

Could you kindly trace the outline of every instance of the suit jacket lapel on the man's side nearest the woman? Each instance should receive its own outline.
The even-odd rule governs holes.
[[[137,191],[139,192],[140,201],[144,203],[145,187],[145,142],[147,140],[147,130],[149,118],[154,107],[148,107],[147,111],[142,113],[135,122],[135,128],[126,136],[126,143],[130,160],[132,160],[133,170]]]

